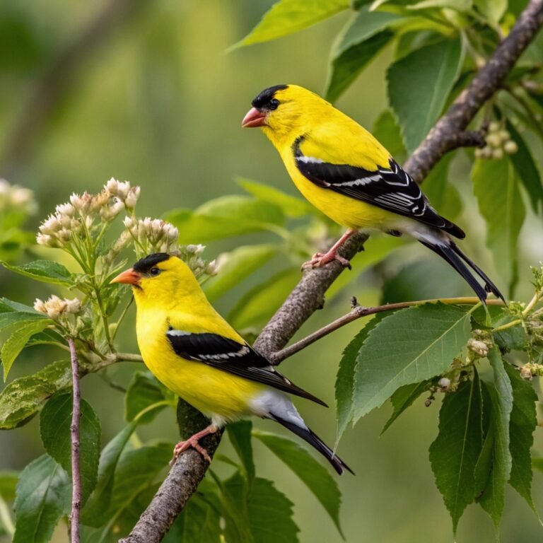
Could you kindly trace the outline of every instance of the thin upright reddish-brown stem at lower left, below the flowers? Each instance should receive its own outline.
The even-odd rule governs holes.
[[[79,389],[79,364],[74,339],[68,340],[70,346],[71,378],[74,389],[71,411],[71,543],[80,543],[79,513],[81,512],[81,469],[79,468],[79,421],[81,420],[81,390]]]

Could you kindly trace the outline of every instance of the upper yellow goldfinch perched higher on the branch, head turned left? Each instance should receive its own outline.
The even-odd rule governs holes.
[[[322,213],[347,228],[326,253],[306,265],[339,260],[338,247],[358,230],[406,233],[445,259],[484,303],[502,298],[496,285],[452,240],[463,230],[437,214],[408,173],[363,127],[315,93],[296,85],[264,89],[242,127],[262,127],[300,192]],[[466,264],[484,281],[484,288]]]

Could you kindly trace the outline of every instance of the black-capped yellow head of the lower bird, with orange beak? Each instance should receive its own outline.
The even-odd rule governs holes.
[[[136,303],[145,299],[163,307],[201,292],[187,264],[166,252],[156,252],[139,259],[132,268],[123,271],[111,282],[132,285]]]

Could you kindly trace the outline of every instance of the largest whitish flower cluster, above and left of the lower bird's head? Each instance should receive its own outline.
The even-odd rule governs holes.
[[[128,181],[110,179],[98,194],[72,194],[70,201],[56,207],[54,214],[43,221],[37,234],[37,243],[47,247],[65,247],[73,235],[83,229],[91,230],[95,219],[109,223],[123,209],[132,212],[140,193]]]

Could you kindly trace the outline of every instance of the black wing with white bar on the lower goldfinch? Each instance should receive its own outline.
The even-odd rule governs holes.
[[[170,328],[166,332],[175,354],[213,366],[219,370],[263,383],[289,394],[311,399],[327,407],[325,402],[297,387],[281,375],[271,363],[246,343],[238,343],[219,334],[193,334]]]

